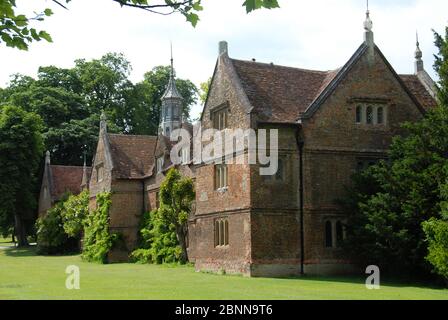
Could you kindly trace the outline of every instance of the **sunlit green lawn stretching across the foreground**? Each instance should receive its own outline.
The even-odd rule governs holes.
[[[81,289],[65,288],[65,269],[81,270]],[[191,267],[98,265],[79,256],[42,257],[32,249],[0,250],[0,300],[4,299],[444,299],[448,290],[382,284],[362,279],[265,279],[196,273]]]

